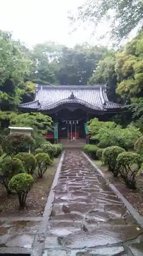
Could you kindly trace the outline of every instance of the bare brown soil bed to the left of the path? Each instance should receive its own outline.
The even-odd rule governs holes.
[[[59,160],[60,158],[54,160],[43,178],[35,178],[35,183],[27,196],[25,209],[19,208],[17,195],[8,195],[4,185],[0,184],[0,217],[42,216]]]

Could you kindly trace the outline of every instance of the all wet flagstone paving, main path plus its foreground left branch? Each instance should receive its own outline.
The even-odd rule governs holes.
[[[0,220],[0,255],[9,252],[143,256],[143,229],[82,152],[66,151],[43,217]]]

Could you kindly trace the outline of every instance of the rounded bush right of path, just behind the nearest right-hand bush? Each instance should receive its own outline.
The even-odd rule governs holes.
[[[119,146],[109,146],[106,147],[103,152],[103,162],[107,166],[108,170],[110,170],[114,177],[118,175],[118,169],[116,166],[116,158],[119,154],[125,152],[124,148]]]

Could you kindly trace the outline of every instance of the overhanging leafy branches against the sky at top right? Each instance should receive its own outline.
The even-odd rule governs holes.
[[[110,36],[112,39],[121,41],[138,26],[143,25],[143,2],[142,0],[86,0],[85,4],[78,8],[78,14],[70,15],[74,22],[92,22],[94,32],[99,24],[108,20],[111,24]]]

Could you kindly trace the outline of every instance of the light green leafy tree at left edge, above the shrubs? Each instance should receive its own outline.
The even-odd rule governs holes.
[[[9,32],[0,31],[0,86],[1,106],[10,110],[17,104],[26,85],[31,61],[23,52],[19,41],[14,41]],[[12,107],[13,106],[13,107]]]

